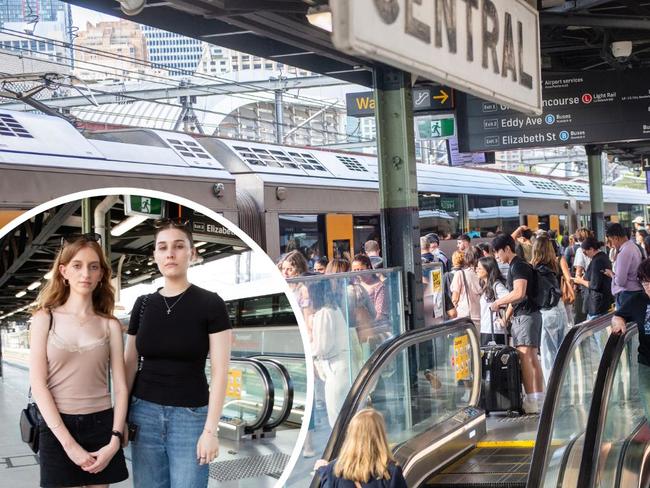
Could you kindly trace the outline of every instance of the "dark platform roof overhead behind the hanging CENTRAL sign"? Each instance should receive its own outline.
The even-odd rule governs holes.
[[[136,16],[115,0],[64,0],[141,24],[365,86],[374,61],[338,51],[330,34],[311,25],[310,8],[328,0],[148,0]],[[537,2],[542,69],[548,72],[650,67],[650,5],[638,0]],[[553,4],[545,7],[544,4]],[[617,59],[610,46],[631,41],[632,55]],[[622,155],[650,152],[650,142],[613,144]]]

